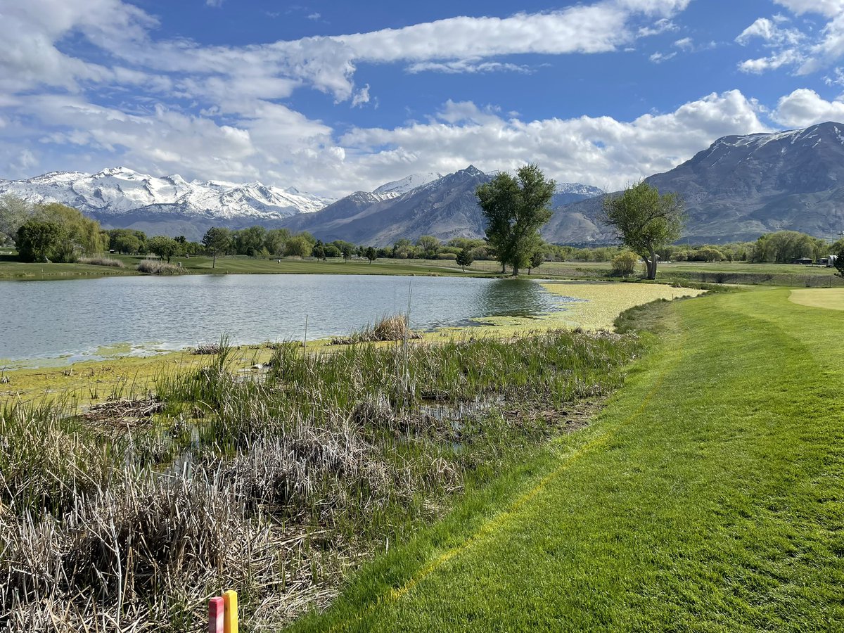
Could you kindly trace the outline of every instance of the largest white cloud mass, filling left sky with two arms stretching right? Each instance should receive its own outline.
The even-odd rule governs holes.
[[[79,169],[108,160],[155,174],[262,180],[329,195],[414,171],[445,173],[469,163],[511,170],[528,161],[560,181],[619,187],[672,168],[719,136],[766,130],[759,104],[735,90],[632,121],[531,120],[496,106],[447,101],[424,122],[355,127],[339,138],[332,127],[280,103],[302,87],[322,90],[346,108],[376,103],[376,84],[355,84],[364,63],[403,64],[408,73],[529,72],[501,57],[635,48],[637,38],[672,30],[672,18],[689,0],[598,0],[254,46],[160,40],[156,19],[133,5],[82,4],[0,0],[7,42],[0,47],[0,164],[15,176],[31,176],[20,172],[61,148],[75,152],[72,166]],[[73,57],[62,46],[68,38],[84,40],[80,50],[93,47],[97,54]],[[687,50],[693,42],[684,38],[675,46]],[[130,86],[130,106],[101,98]],[[781,103],[777,116],[796,116],[789,114],[796,101]]]

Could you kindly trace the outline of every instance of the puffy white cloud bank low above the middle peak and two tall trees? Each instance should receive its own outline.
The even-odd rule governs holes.
[[[766,131],[760,111],[736,90],[632,122],[609,116],[521,121],[472,102],[448,102],[430,122],[392,130],[357,128],[340,143],[354,157],[361,181],[372,183],[375,173],[389,180],[414,170],[445,173],[469,163],[490,171],[538,162],[560,181],[622,187],[671,169],[718,137]]]

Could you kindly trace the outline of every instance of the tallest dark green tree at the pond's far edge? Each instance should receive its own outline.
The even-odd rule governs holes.
[[[555,188],[537,165],[525,165],[516,176],[500,173],[475,191],[501,272],[509,265],[515,276],[519,268],[527,268],[542,241],[539,230],[551,218]]]

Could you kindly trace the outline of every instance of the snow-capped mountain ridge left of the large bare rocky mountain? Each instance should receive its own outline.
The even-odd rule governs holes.
[[[412,174],[372,192],[340,200],[260,182],[185,181],[181,176],[149,176],[111,167],[96,174],[53,171],[22,181],[0,181],[10,193],[34,203],[58,202],[78,208],[105,228],[131,228],[148,235],[185,235],[199,240],[211,226],[252,225],[308,230],[322,240],[387,245],[406,237],[483,237],[484,219],[474,197],[491,174],[469,165],[442,176]],[[596,187],[560,185],[554,204],[600,195]]]

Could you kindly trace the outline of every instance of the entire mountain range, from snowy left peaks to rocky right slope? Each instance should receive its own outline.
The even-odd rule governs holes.
[[[197,240],[210,226],[258,224],[307,230],[324,241],[383,246],[419,235],[482,237],[484,219],[474,192],[494,176],[469,165],[453,174],[414,174],[334,200],[294,187],[187,182],[114,167],[0,181],[0,194],[68,204],[106,228],[149,235]],[[783,229],[831,238],[844,229],[844,124],[719,138],[646,181],[684,198],[689,214],[684,241],[752,240]],[[598,219],[602,197],[597,187],[558,185],[544,238],[566,244],[614,240]]]

